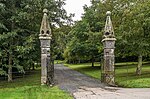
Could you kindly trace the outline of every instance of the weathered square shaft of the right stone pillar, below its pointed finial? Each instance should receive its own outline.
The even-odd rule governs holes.
[[[115,71],[114,71],[114,63],[115,63],[115,56],[114,56],[114,44],[115,38],[104,39],[104,61],[102,67],[102,82],[108,85],[115,84]]]

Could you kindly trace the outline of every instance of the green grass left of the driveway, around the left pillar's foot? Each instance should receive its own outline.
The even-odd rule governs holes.
[[[12,83],[0,81],[0,99],[73,99],[57,86],[40,85],[40,70],[14,79]]]

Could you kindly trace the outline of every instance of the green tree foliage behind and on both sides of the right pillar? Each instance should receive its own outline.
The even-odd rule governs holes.
[[[150,55],[150,1],[149,0],[92,0],[84,6],[82,20],[76,22],[72,37],[64,51],[67,62],[100,61],[102,35],[106,11],[112,12],[115,29],[116,61],[138,61],[137,74],[141,74],[142,60]]]

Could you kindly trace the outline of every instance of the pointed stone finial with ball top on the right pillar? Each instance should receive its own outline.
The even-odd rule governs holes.
[[[105,29],[104,29],[104,38],[112,38],[114,37],[114,29],[110,18],[111,12],[107,11],[106,15],[107,18],[106,18]]]

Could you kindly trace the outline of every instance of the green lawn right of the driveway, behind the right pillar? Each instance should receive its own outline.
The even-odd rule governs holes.
[[[91,67],[91,63],[65,65],[88,76],[97,79],[101,78],[101,67],[99,63],[95,63],[95,67]],[[142,66],[142,75],[140,76],[135,74],[136,65],[136,62],[115,64],[115,81],[118,86],[130,88],[150,88],[150,64],[144,63]]]

